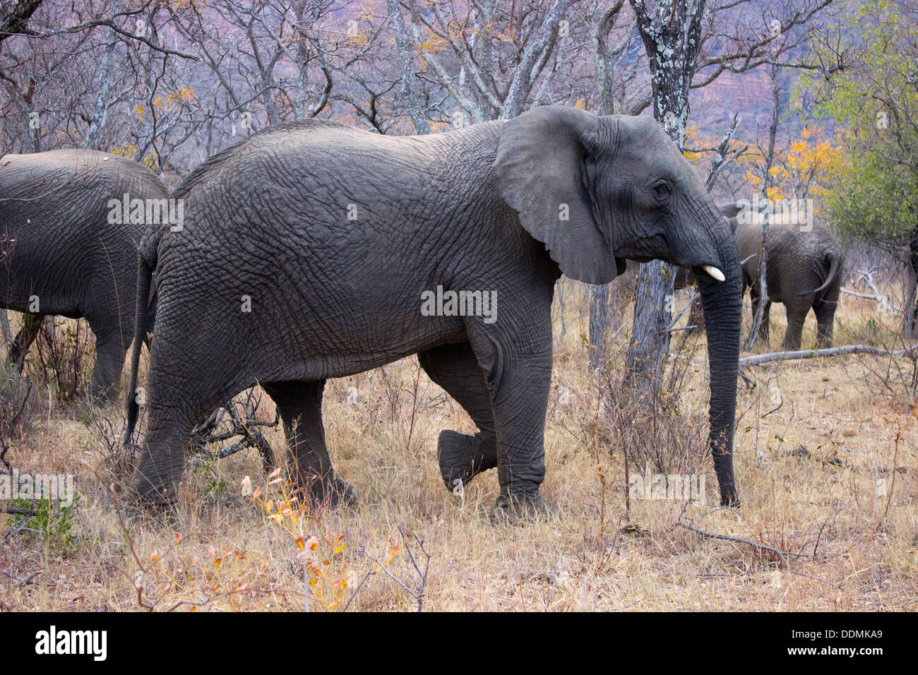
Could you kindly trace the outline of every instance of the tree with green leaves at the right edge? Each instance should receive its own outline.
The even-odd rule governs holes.
[[[851,238],[906,251],[918,279],[918,2],[856,7],[821,34],[817,52],[823,67],[802,90],[838,123],[845,150],[829,215]],[[914,309],[905,328],[915,330]]]

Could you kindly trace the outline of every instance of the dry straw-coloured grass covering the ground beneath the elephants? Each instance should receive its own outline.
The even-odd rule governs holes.
[[[643,470],[648,458],[679,470],[700,462],[708,501],[715,500],[710,458],[697,456],[708,394],[704,338],[687,341],[683,354],[690,360],[681,362],[689,367],[676,378],[662,435],[648,437],[646,420],[629,428],[611,404],[598,412],[598,388],[586,372],[583,295],[573,284],[567,288],[567,332],[556,334],[557,388],[545,434],[543,495],[561,508],[560,520],[489,523],[498,493],[494,472],[476,478],[461,497],[443,488],[437,434],[473,433],[474,426],[419,373],[414,358],[327,388],[332,458],[360,493],[359,508],[276,515],[284,508],[284,485],[264,475],[250,450],[190,469],[176,512],[141,517],[129,533],[117,499],[96,478],[117,465],[106,444],[72,405],[38,389],[28,428],[11,441],[9,456],[20,471],[75,472],[80,500],[69,515],[69,535],[53,532],[60,515],[47,519],[44,533],[12,534],[18,521],[0,520],[0,610],[299,610],[307,599],[304,575],[315,579],[306,594],[310,609],[411,610],[415,599],[364,551],[415,588],[409,552],[421,567],[423,555],[414,534],[431,555],[425,610],[916,609],[911,362],[899,360],[901,371],[890,371],[888,360],[856,356],[757,367],[758,386],[741,386],[737,406],[740,512],[632,500],[626,513],[625,445],[650,453],[631,471]],[[836,343],[891,345],[895,331],[885,323],[892,321],[875,303],[843,297]],[[556,333],[559,326],[556,321]],[[783,330],[777,308],[776,348]],[[811,315],[804,343],[814,339]],[[610,364],[612,380],[619,366]],[[262,407],[263,417],[273,417],[270,399]],[[105,415],[118,433],[119,408]],[[680,428],[691,443],[676,443]],[[266,437],[276,450],[284,447],[279,429],[266,430]],[[659,438],[678,448],[662,447],[670,441]],[[243,495],[245,477],[257,499]],[[885,480],[885,494],[878,480]],[[677,524],[680,518],[787,551],[789,569],[767,551],[690,532]],[[37,521],[27,529],[39,529]],[[305,571],[305,560],[312,571]]]

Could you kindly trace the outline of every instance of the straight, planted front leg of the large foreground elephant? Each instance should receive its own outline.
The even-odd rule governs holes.
[[[545,412],[552,377],[551,324],[539,334],[473,333],[485,371],[498,441],[498,521],[546,517],[556,510],[539,494],[545,478]],[[544,334],[542,334],[544,333]]]

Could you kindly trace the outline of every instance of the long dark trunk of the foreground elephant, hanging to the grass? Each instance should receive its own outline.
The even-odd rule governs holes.
[[[714,226],[724,276],[718,282],[698,275],[711,365],[711,432],[709,444],[721,487],[721,504],[739,503],[733,478],[733,427],[736,420],[736,376],[739,368],[742,291],[739,253],[726,224]]]

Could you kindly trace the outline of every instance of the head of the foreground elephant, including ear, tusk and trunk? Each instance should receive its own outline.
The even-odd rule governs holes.
[[[625,259],[698,276],[711,364],[711,452],[723,503],[736,500],[733,424],[741,285],[733,234],[692,165],[652,118],[537,107],[500,129],[501,197],[561,271],[605,284]]]

